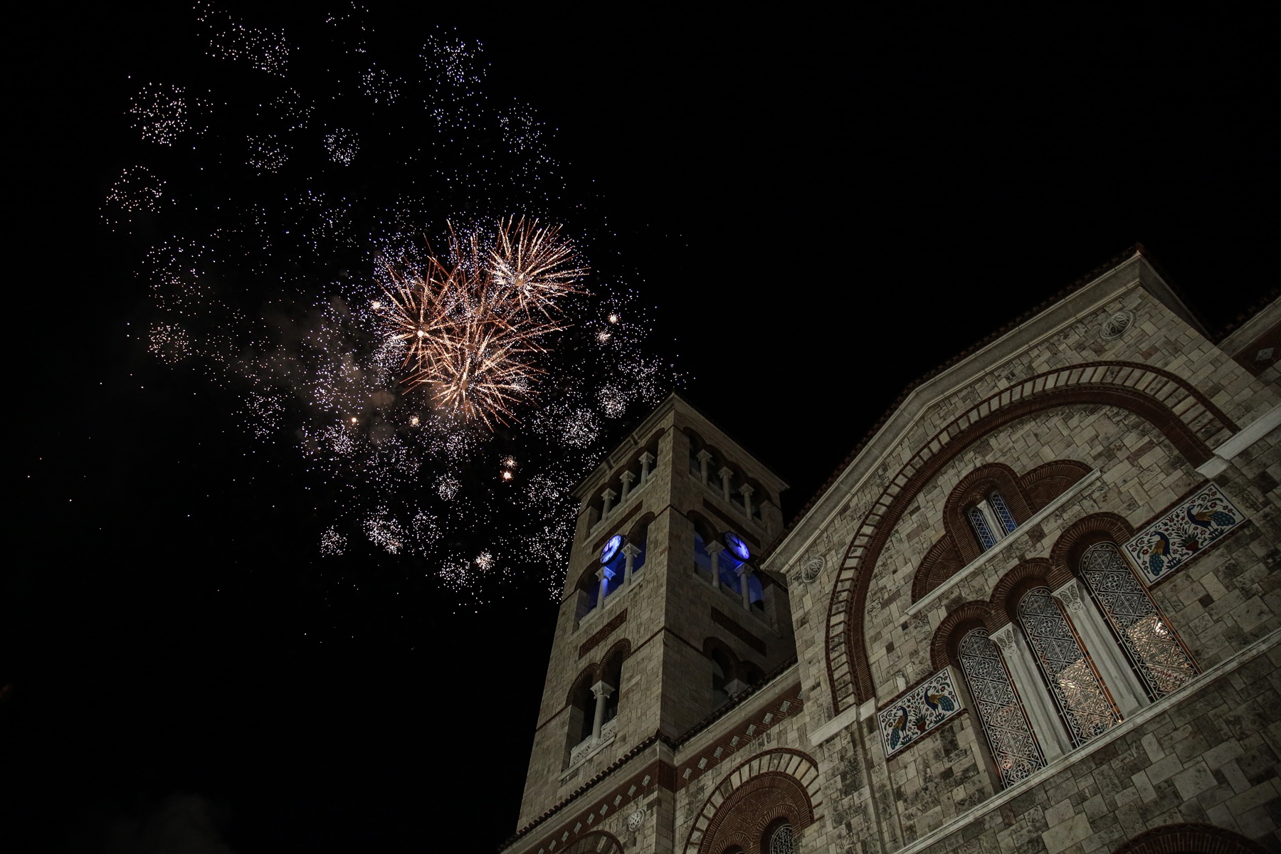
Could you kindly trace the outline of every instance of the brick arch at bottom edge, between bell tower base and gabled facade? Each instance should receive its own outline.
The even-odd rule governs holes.
[[[742,763],[711,790],[685,837],[684,854],[720,854],[738,845],[760,851],[760,839],[785,817],[801,830],[815,822],[821,803],[819,763],[799,750],[776,748]]]

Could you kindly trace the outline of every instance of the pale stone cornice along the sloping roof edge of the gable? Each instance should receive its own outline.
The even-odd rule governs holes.
[[[1136,243],[904,388],[792,522],[763,551],[762,567],[784,574],[784,567],[779,563],[785,566],[808,548],[815,533],[826,528],[845,498],[872,474],[876,460],[888,451],[885,446],[910,429],[935,401],[956,392],[972,375],[1011,359],[1063,325],[1097,312],[1117,294],[1134,287],[1150,292],[1208,339],[1205,326],[1162,278],[1143,245]],[[869,462],[869,451],[874,448],[880,453],[872,455],[876,460]],[[842,485],[844,488],[836,489]],[[815,533],[807,535],[806,531],[811,529]]]

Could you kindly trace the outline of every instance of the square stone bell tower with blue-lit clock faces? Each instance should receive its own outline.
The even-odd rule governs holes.
[[[784,489],[675,394],[576,487],[520,828],[635,762],[670,773],[683,734],[796,656],[787,588],[757,562]],[[670,850],[655,791],[657,836],[637,846]]]

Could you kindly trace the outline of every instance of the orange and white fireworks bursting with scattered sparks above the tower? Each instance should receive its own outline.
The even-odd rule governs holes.
[[[135,243],[150,352],[309,472],[325,566],[373,553],[460,602],[559,597],[573,484],[679,375],[638,294],[589,273],[608,233],[565,198],[552,132],[494,106],[483,46],[452,31],[380,55],[356,5],[310,41],[195,17],[215,82],[140,83],[137,163],[102,202],[120,241],[156,236]]]

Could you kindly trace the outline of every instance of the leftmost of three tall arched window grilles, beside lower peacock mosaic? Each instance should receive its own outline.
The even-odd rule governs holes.
[[[1026,780],[1045,767],[1045,754],[1036,743],[997,644],[985,630],[975,629],[961,639],[957,652],[1002,786]]]

